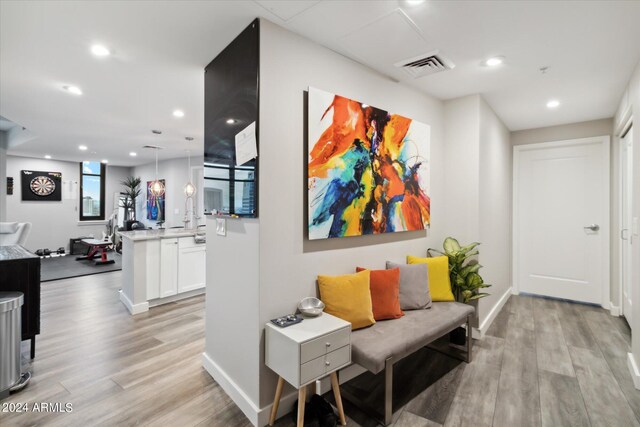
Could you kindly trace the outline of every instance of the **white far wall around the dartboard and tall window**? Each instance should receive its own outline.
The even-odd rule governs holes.
[[[61,172],[63,185],[69,181],[78,183],[80,167],[77,162],[35,159],[29,157],[8,156],[7,176],[13,177],[13,195],[7,196],[7,221],[30,222],[33,227],[26,243],[27,249],[57,249],[64,246],[69,249],[69,239],[93,234],[100,237],[105,230],[105,222],[90,225],[79,221],[79,193],[74,199],[60,202],[22,201],[20,187],[21,170],[41,170]],[[120,191],[119,182],[129,174],[129,168],[108,166],[105,183],[105,218],[113,210],[113,194]],[[78,188],[78,185],[75,185]],[[79,190],[78,190],[79,192]],[[63,193],[64,194],[64,193]]]

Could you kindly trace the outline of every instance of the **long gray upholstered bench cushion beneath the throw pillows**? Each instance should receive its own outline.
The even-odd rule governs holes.
[[[407,310],[399,319],[381,320],[351,333],[351,361],[377,374],[389,357],[395,361],[462,325],[473,307],[434,302],[429,309]]]

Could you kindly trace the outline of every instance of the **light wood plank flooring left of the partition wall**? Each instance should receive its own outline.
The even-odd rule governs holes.
[[[249,426],[201,366],[204,296],[130,316],[121,272],[42,284],[29,386],[0,402],[71,403],[71,413],[1,413],[0,426]]]

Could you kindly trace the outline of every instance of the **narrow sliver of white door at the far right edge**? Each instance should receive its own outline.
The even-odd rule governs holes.
[[[621,221],[620,221],[620,278],[622,283],[622,314],[631,325],[631,228],[632,213],[631,200],[633,192],[633,136],[629,129],[620,140],[620,166],[621,166]]]

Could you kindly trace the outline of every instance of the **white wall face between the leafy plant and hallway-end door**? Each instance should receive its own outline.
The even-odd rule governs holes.
[[[491,295],[478,304],[480,326],[488,325],[491,310],[511,289],[511,203],[513,149],[510,134],[489,105],[480,98],[479,241],[482,278]]]

